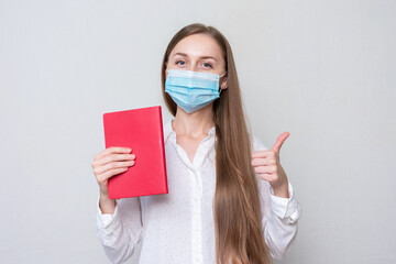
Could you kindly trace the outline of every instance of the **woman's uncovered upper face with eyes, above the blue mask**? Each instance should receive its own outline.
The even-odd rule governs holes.
[[[184,69],[222,75],[226,62],[219,44],[207,34],[183,38],[170,52],[166,69]]]

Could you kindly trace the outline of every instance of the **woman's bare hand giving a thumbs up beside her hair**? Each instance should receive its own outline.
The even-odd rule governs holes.
[[[267,180],[274,189],[274,195],[288,198],[288,180],[285,170],[279,162],[279,152],[283,143],[289,136],[284,132],[276,140],[270,151],[258,151],[252,153],[252,166],[258,176]]]

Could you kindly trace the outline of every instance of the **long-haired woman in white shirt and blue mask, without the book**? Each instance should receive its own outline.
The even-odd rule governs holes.
[[[248,133],[231,47],[215,28],[190,24],[172,38],[163,95],[168,194],[110,200],[110,177],[133,166],[125,147],[95,156],[97,234],[113,263],[143,239],[140,263],[271,263],[297,233],[299,206],[279,164],[282,134],[265,151]],[[147,172],[150,174],[150,172]]]

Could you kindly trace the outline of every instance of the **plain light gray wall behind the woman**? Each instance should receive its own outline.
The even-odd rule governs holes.
[[[0,262],[108,263],[90,167],[101,114],[163,105],[165,47],[204,22],[233,47],[253,132],[268,146],[290,132],[302,217],[276,263],[396,263],[395,13],[392,0],[0,0]]]

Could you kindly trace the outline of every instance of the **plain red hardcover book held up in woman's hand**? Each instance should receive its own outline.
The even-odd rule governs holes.
[[[110,199],[167,194],[161,107],[103,114],[106,148],[132,148],[135,164],[109,179]]]

